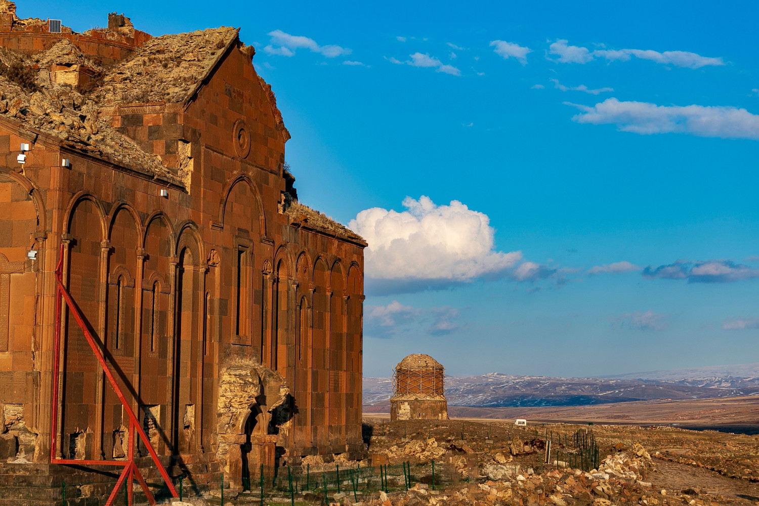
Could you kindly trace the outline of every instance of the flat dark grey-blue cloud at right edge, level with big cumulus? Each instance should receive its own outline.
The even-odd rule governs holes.
[[[647,266],[643,269],[643,277],[687,279],[688,283],[732,283],[759,278],[759,269],[732,260],[676,260],[663,266]]]

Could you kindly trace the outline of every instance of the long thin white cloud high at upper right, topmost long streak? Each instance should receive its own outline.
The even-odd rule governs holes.
[[[548,46],[548,54],[556,56],[554,61],[559,61],[559,63],[585,64],[596,58],[604,58],[606,61],[628,61],[635,57],[683,68],[701,68],[725,64],[722,58],[710,58],[687,51],[658,52],[651,49],[595,49],[591,51],[583,46],[570,46],[565,39],[552,42]]]

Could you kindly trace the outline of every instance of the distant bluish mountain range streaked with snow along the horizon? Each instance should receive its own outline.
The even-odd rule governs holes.
[[[384,407],[392,379],[364,378],[364,405]],[[586,406],[625,401],[703,399],[759,395],[759,363],[635,372],[600,378],[446,376],[451,406]],[[375,409],[376,410],[376,409]]]

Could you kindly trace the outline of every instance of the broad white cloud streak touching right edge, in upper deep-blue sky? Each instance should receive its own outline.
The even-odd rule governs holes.
[[[691,134],[698,137],[759,140],[759,115],[744,108],[720,105],[657,105],[620,102],[612,98],[593,106],[565,102],[580,109],[573,121],[616,124],[635,134]]]

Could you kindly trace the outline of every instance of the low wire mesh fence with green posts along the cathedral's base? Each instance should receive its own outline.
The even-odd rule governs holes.
[[[304,464],[298,467],[259,467],[250,476],[232,482],[229,476],[203,486],[185,476],[177,476],[174,485],[181,500],[203,498],[206,504],[329,504],[348,496],[361,501],[379,491],[399,492],[422,483],[429,489],[446,489],[466,479],[448,463],[430,461],[424,464],[402,462],[379,466],[361,464],[324,464],[318,467]],[[150,481],[150,480],[149,480]],[[241,486],[240,486],[241,485]],[[112,482],[78,479],[55,485],[0,486],[0,506],[103,506],[115,486]],[[168,490],[158,482],[150,488],[159,504],[169,502]],[[140,487],[134,484],[132,504],[148,504]],[[128,505],[128,488],[121,486],[114,506]]]

